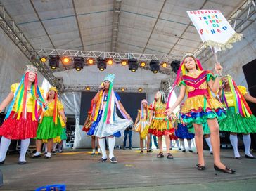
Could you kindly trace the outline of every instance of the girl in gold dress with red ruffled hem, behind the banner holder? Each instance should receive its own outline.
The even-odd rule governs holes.
[[[151,110],[151,116],[149,119],[151,125],[148,129],[148,133],[151,133],[154,136],[158,136],[158,147],[160,150],[159,154],[157,155],[158,158],[164,157],[162,152],[162,136],[165,136],[167,159],[173,159],[172,154],[169,153],[169,135],[174,133],[174,127],[172,126],[172,122],[165,114],[166,107],[167,105],[165,102],[165,93],[158,91],[155,94],[155,100],[153,104],[151,104],[149,107],[149,110]]]

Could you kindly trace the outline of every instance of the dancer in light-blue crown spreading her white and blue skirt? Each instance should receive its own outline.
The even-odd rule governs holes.
[[[97,136],[101,147],[102,157],[98,162],[106,162],[107,154],[105,151],[105,137],[108,137],[109,159],[110,162],[117,162],[114,156],[115,136],[121,136],[120,131],[124,131],[127,126],[133,124],[131,117],[124,110],[120,102],[120,96],[113,91],[113,82],[115,74],[108,74],[103,80],[102,89],[94,97],[94,123],[91,125],[87,135]],[[122,116],[126,119],[120,119],[116,113],[116,106]]]

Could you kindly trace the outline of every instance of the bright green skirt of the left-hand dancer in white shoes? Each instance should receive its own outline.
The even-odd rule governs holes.
[[[60,118],[58,118],[58,123],[54,124],[53,117],[43,117],[41,124],[38,125],[36,139],[56,138],[60,136],[62,129]]]

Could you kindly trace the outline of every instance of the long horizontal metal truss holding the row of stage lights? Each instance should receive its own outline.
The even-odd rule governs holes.
[[[146,62],[145,67],[141,67],[145,70],[150,70],[150,67],[148,63],[151,60],[158,60],[159,62],[167,62],[168,67],[166,68],[160,68],[160,73],[162,74],[170,74],[171,68],[170,68],[170,62],[173,60],[180,60],[180,55],[157,55],[157,54],[143,54],[143,53],[115,53],[115,52],[103,52],[103,51],[79,51],[79,50],[63,50],[63,49],[39,49],[37,50],[37,55],[39,56],[49,56],[49,55],[59,55],[60,57],[68,56],[70,58],[75,57],[83,57],[85,60],[88,58],[96,58],[103,57],[107,59],[113,59],[113,61],[117,64],[120,64],[122,60],[128,60],[128,59],[137,59],[138,62]],[[87,64],[84,64],[87,65]],[[61,72],[65,70],[71,70],[73,69],[73,66],[66,66],[66,67],[58,67],[53,72]]]

